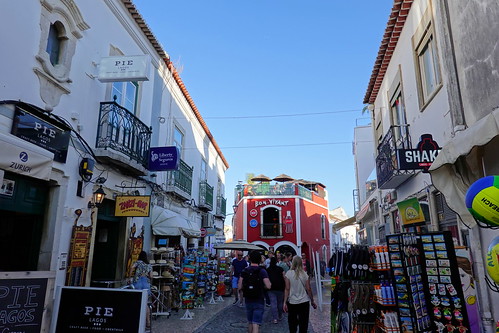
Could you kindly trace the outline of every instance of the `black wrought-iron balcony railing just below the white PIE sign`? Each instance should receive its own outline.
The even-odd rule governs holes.
[[[147,167],[151,129],[116,102],[100,103],[96,148],[113,149]]]

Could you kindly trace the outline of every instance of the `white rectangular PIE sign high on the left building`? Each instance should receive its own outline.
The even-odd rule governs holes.
[[[149,56],[117,56],[101,58],[100,82],[149,81]]]

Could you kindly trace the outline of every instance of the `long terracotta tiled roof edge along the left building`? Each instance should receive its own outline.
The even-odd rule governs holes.
[[[196,107],[196,104],[194,104],[192,97],[189,95],[187,88],[185,88],[185,85],[182,82],[182,79],[180,78],[180,75],[178,74],[177,70],[175,69],[175,66],[173,66],[173,64],[170,62],[170,56],[168,55],[168,53],[165,52],[165,50],[163,50],[163,47],[156,39],[156,37],[152,33],[151,29],[149,28],[149,26],[147,25],[145,20],[142,18],[142,15],[138,12],[133,1],[132,0],[121,0],[121,2],[123,2],[123,5],[125,5],[125,7],[128,9],[128,12],[132,16],[132,18],[135,20],[137,25],[140,27],[140,29],[142,30],[144,35],[147,37],[147,39],[149,40],[151,45],[154,47],[154,49],[156,50],[158,55],[165,62],[166,66],[168,67],[168,69],[172,73],[172,76],[174,77],[175,82],[179,86],[180,90],[182,91],[182,94],[184,95],[184,97],[187,100],[187,102],[189,103],[192,111],[194,112],[194,115],[196,116],[197,120],[199,121],[199,123],[203,127],[204,132],[206,133],[206,135],[210,139],[211,143],[215,147],[215,150],[217,151],[217,153],[220,155],[220,158],[222,159],[223,163],[225,164],[225,167],[229,168],[229,163],[225,159],[225,157],[222,153],[222,150],[220,149],[217,142],[215,141],[215,138],[211,134],[210,129],[206,125],[206,122],[204,121],[203,117],[201,116],[201,113],[199,113],[199,110]]]

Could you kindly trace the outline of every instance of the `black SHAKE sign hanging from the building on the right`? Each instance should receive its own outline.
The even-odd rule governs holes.
[[[431,134],[423,134],[416,149],[397,149],[399,169],[428,172],[441,149]]]

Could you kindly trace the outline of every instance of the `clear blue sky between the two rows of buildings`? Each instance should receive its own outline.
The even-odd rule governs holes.
[[[326,185],[353,215],[353,128],[392,0],[134,0],[230,168]]]

